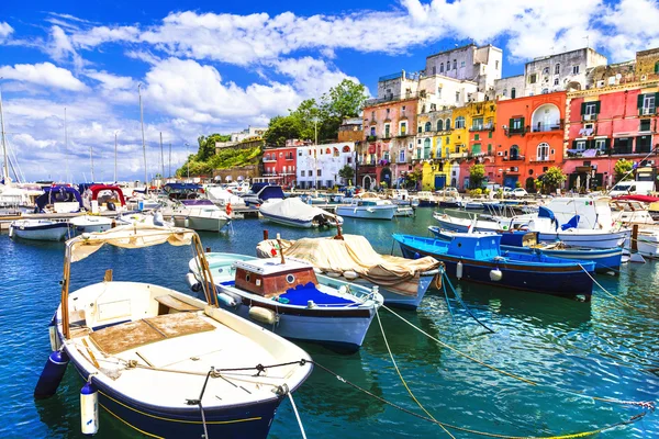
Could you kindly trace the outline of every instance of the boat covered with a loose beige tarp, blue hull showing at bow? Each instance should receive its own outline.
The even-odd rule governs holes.
[[[316,271],[372,289],[379,288],[387,305],[416,309],[428,288],[437,286],[440,263],[434,258],[409,260],[379,255],[364,236],[340,235],[334,238],[264,240],[256,247],[259,258],[283,250],[287,258],[312,263]]]

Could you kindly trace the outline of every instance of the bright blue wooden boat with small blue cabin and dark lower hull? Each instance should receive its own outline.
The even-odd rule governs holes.
[[[403,256],[417,259],[432,256],[459,280],[514,290],[562,296],[584,295],[593,289],[594,262],[501,251],[500,235],[456,233],[450,241],[411,235],[393,235]]]

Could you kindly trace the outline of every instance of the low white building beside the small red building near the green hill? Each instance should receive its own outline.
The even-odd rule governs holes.
[[[300,146],[298,147],[297,185],[320,189],[347,184],[348,182],[338,176],[338,171],[346,165],[355,166],[354,142]]]

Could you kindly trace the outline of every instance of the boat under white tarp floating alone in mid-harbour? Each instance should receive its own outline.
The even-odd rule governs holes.
[[[268,221],[292,227],[333,227],[343,224],[340,216],[304,203],[299,198],[266,202],[259,213]]]

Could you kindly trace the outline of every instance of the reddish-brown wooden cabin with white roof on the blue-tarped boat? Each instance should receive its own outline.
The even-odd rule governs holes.
[[[286,294],[294,289],[315,289],[319,284],[313,267],[295,260],[289,259],[284,263],[278,258],[237,261],[234,267],[235,286],[264,297]]]

